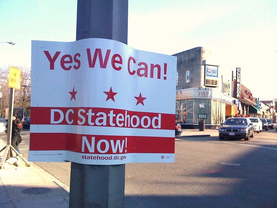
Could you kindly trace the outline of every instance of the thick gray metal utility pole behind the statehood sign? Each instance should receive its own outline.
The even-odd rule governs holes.
[[[128,0],[78,0],[76,40],[127,44]],[[124,207],[125,164],[71,163],[69,207]]]

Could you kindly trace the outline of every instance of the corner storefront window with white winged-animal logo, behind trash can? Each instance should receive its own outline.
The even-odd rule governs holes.
[[[211,100],[194,100],[194,123],[205,119],[206,124],[211,124]]]

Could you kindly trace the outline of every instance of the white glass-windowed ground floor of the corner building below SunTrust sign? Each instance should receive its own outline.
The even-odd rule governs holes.
[[[206,128],[218,128],[227,113],[237,113],[237,103],[237,99],[211,88],[177,90],[175,122],[182,128],[199,128],[199,119],[203,119]]]

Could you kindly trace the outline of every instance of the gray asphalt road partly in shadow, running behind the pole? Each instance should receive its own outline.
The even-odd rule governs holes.
[[[22,138],[27,157],[29,131]],[[277,207],[275,128],[249,141],[184,139],[175,163],[126,164],[125,207]],[[70,162],[36,164],[69,186]]]

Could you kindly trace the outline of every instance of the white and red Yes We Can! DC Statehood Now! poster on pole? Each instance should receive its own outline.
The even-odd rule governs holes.
[[[177,57],[32,41],[29,161],[174,162]]]

